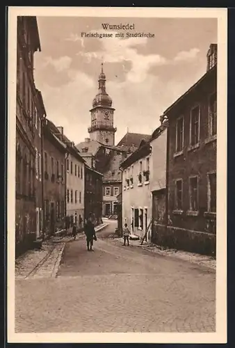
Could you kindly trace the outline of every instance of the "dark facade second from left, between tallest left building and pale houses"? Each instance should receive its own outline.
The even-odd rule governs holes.
[[[55,135],[56,126],[48,119],[43,124],[44,139],[44,233],[54,235],[65,228],[66,212],[66,145]]]

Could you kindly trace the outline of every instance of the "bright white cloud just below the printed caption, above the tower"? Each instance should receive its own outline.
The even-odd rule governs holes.
[[[91,31],[91,33],[94,31]],[[96,33],[104,33],[104,31],[95,31]],[[92,58],[102,60],[106,63],[123,63],[131,62],[131,70],[127,72],[126,79],[132,83],[143,82],[147,78],[147,72],[154,65],[163,65],[167,61],[159,54],[143,55],[138,53],[136,46],[146,45],[147,38],[115,38],[115,31],[106,31],[113,33],[112,38],[102,38],[102,49],[97,52],[79,52],[86,58],[87,63]],[[90,40],[90,39],[89,39]]]

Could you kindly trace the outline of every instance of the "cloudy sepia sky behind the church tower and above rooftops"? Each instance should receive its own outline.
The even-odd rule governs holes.
[[[134,23],[134,32],[155,38],[81,39],[83,31],[104,33],[108,22]],[[38,29],[35,84],[47,117],[74,143],[88,137],[102,61],[117,143],[127,127],[145,134],[158,127],[161,113],[206,72],[206,52],[217,42],[216,19],[38,17]]]

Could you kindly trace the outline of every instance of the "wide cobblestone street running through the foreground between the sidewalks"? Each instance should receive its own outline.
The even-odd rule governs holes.
[[[16,332],[215,331],[215,271],[122,246],[107,238],[114,228],[97,232],[93,253],[84,238],[66,242],[58,272],[54,257],[16,278]]]

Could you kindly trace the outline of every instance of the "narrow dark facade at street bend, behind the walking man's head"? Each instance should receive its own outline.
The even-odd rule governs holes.
[[[90,213],[93,214],[95,224],[102,222],[102,173],[85,166],[85,204],[84,216],[87,221]]]

